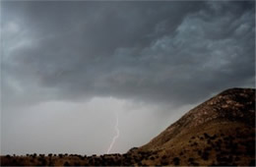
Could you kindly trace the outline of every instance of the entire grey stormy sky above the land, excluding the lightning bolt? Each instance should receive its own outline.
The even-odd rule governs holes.
[[[1,154],[125,152],[255,86],[254,1],[1,2]]]

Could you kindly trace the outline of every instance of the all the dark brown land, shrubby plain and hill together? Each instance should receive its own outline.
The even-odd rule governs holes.
[[[255,166],[255,89],[227,89],[190,110],[149,143],[124,154],[5,155],[1,165]]]

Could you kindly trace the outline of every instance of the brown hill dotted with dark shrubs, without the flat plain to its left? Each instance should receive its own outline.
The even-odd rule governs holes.
[[[224,90],[138,151],[158,151],[147,165],[255,164],[255,89]]]

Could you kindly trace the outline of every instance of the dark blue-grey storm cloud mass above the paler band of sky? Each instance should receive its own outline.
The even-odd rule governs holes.
[[[3,95],[176,105],[254,86],[254,2],[4,2]]]

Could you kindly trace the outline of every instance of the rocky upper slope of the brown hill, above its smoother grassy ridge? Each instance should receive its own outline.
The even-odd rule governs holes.
[[[255,89],[232,88],[190,110],[144,148],[159,148],[166,142],[202,129],[207,123],[237,123],[255,126]],[[218,128],[217,126],[216,128]]]

